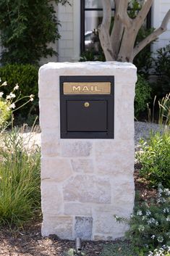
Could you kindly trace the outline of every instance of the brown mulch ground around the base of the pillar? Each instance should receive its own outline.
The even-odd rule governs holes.
[[[150,200],[156,197],[156,191],[148,188],[141,180],[139,166],[135,166],[135,189],[140,197]],[[83,241],[82,250],[86,256],[99,256],[103,245],[115,241]],[[75,248],[75,241],[60,240],[57,236],[41,236],[41,220],[35,221],[23,230],[2,228],[0,231],[0,256],[67,256],[69,249]],[[71,252],[71,251],[70,251]],[[72,253],[70,255],[73,255]]]

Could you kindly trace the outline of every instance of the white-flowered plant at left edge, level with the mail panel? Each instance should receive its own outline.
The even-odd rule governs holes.
[[[1,83],[1,78],[0,78]],[[1,83],[0,88],[3,86],[7,86],[7,81],[4,83]],[[4,127],[4,124],[7,123],[7,120],[9,120],[9,117],[12,116],[13,112],[16,110],[19,110],[21,107],[23,107],[28,102],[33,101],[34,95],[31,94],[30,96],[21,96],[21,92],[19,94],[16,94],[16,91],[18,91],[19,86],[16,84],[13,88],[13,90],[10,92],[9,95],[7,95],[4,98],[4,92],[0,91],[0,129]],[[22,105],[18,105],[18,102],[20,102],[22,99],[27,98],[27,102],[25,102]],[[16,107],[17,104],[17,107]]]

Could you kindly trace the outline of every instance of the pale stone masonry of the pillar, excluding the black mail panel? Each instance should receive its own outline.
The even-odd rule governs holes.
[[[60,75],[114,75],[114,139],[60,139]],[[136,68],[121,62],[48,63],[39,71],[42,235],[112,240],[134,205]]]

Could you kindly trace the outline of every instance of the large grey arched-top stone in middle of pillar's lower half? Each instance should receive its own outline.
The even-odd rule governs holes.
[[[111,202],[109,179],[97,176],[77,175],[64,186],[64,200],[93,203]]]

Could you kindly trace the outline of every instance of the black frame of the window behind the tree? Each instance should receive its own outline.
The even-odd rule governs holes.
[[[115,11],[115,8],[111,9]],[[85,51],[85,12],[86,11],[103,11],[102,8],[85,8],[85,0],[80,0],[80,53]],[[146,28],[151,28],[151,8],[147,15]]]

